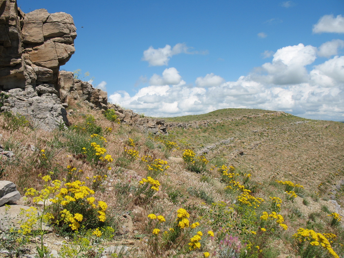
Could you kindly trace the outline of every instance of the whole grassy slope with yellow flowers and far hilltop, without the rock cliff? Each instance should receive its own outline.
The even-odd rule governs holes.
[[[344,256],[336,206],[344,195],[343,123],[222,109],[166,118],[209,123],[153,136],[69,104],[76,111],[71,126],[52,132],[0,115],[0,144],[15,154],[1,160],[1,180],[16,183],[22,195],[30,187],[50,189],[46,197],[56,200],[45,211],[57,233],[43,236],[48,251],[100,257],[100,247],[115,246],[111,257]],[[31,236],[23,234],[11,235],[15,250],[33,253]],[[13,249],[5,239],[1,248]]]

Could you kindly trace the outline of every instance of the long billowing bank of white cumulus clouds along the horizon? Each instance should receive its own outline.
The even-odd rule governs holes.
[[[317,51],[311,45],[286,46],[276,51],[271,63],[235,81],[225,82],[210,73],[196,78],[194,86],[176,79],[178,84],[151,85],[132,95],[118,91],[109,100],[155,117],[260,108],[313,119],[344,120],[344,56],[336,55],[309,71],[306,67],[315,61]],[[172,82],[179,73],[171,68],[165,69],[157,82]]]

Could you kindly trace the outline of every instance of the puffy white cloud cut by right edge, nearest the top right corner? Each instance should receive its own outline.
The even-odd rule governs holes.
[[[324,15],[315,25],[313,25],[313,33],[344,33],[344,17],[339,14],[334,17],[333,14]]]

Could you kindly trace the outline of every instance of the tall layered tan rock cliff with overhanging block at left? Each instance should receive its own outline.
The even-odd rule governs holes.
[[[59,71],[74,54],[76,28],[71,15],[39,9],[23,13],[15,0],[0,0],[0,91],[3,107],[30,116],[45,130],[62,121],[69,98],[106,109],[107,93]]]

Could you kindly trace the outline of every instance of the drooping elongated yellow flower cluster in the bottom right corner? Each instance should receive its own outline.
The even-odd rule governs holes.
[[[331,235],[331,237],[333,236]],[[299,228],[298,232],[293,235],[293,238],[300,242],[309,241],[310,245],[325,248],[333,257],[339,258],[336,252],[332,249],[330,241],[323,234],[316,233],[312,229]]]

